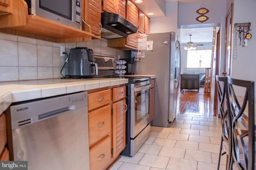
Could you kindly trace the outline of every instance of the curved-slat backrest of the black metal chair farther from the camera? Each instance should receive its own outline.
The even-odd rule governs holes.
[[[223,139],[230,145],[230,149],[232,143],[230,142],[231,139],[231,124],[232,124],[232,117],[230,115],[230,108],[228,102],[228,79],[227,77],[223,76],[216,76],[216,82],[218,86],[218,106],[219,106],[219,113],[221,118],[221,125],[222,125],[222,137]]]

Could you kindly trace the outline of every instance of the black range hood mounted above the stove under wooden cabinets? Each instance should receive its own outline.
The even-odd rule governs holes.
[[[137,27],[118,14],[101,13],[101,37],[106,39],[124,38],[137,32]]]

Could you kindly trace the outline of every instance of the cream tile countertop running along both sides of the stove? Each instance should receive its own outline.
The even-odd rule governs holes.
[[[155,75],[133,75],[150,76]],[[90,79],[44,79],[15,82],[0,82],[0,115],[10,104],[39,98],[69,94],[84,90],[115,86],[128,83],[123,78],[90,78]]]

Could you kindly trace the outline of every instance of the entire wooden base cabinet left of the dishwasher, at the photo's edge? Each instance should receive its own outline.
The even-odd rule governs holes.
[[[0,161],[9,160],[9,151],[7,148],[5,148],[6,143],[6,116],[4,113],[2,113],[0,115]]]

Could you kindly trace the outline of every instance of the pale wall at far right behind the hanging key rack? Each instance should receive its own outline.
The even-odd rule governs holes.
[[[255,0],[234,0],[234,23],[251,23],[252,38],[248,40],[248,47],[239,45],[240,39],[237,37],[237,57],[234,59],[232,53],[231,76],[233,78],[256,81],[256,1]],[[234,52],[234,36],[233,33],[233,49]]]

